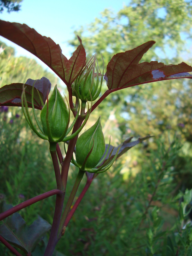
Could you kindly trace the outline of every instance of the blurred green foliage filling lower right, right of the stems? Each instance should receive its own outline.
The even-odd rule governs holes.
[[[68,225],[58,250],[66,248],[67,255],[86,256],[164,256],[176,255],[177,250],[179,255],[185,255],[190,248],[191,230],[182,229],[188,217],[181,219],[179,216],[183,193],[177,195],[174,182],[180,138],[172,138],[167,148],[164,143],[167,136],[154,139],[158,148],[148,154],[140,147],[143,153],[138,165],[142,168],[136,175],[133,167],[124,179],[121,173],[124,160],[119,158],[108,172],[97,176]],[[188,204],[189,193],[191,190],[184,196],[185,204]],[[185,240],[185,237],[189,238]]]

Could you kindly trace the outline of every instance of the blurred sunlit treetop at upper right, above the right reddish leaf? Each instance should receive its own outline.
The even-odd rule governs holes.
[[[105,9],[100,18],[86,28],[76,30],[75,34],[81,37],[88,55],[101,52],[104,63],[108,63],[114,54],[130,50],[149,39],[156,41],[156,48],[148,52],[146,61],[154,57],[163,60],[163,56],[176,60],[185,47],[181,32],[191,36],[191,20],[191,1],[132,0],[116,14]],[[77,45],[78,42],[74,39],[70,44]],[[165,52],[165,45],[174,49],[172,57],[170,51]]]

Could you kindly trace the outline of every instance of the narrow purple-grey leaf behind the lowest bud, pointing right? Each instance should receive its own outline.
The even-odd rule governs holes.
[[[125,140],[122,145],[119,145],[119,146],[115,147],[114,149],[113,149],[113,146],[110,145],[109,146],[108,154],[105,157],[103,163],[100,164],[100,166],[102,164],[104,164],[106,160],[108,160],[108,157],[109,157],[112,149],[113,149],[113,152],[112,152],[112,154],[110,156],[110,159],[112,159],[116,155],[119,147],[121,146],[121,148],[119,149],[119,152],[117,154],[117,158],[118,158],[118,157],[122,156],[125,152],[127,152],[127,150],[129,150],[130,148],[134,147],[135,145],[137,145],[137,144],[141,143],[142,141],[147,140],[147,139],[149,139],[151,137],[152,136],[146,136],[144,138],[139,138],[138,140],[135,140],[135,141],[132,141],[132,142],[130,142],[130,141],[132,140],[133,137],[130,137],[127,140]],[[105,145],[105,153],[107,152],[107,148],[108,148],[108,144]],[[103,156],[105,155],[105,153],[103,154]]]

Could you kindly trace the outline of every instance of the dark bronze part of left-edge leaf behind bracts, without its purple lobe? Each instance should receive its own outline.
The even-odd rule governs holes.
[[[29,84],[24,84],[26,89],[26,98],[28,102],[28,107],[32,108],[31,104],[31,95],[32,95],[32,86]],[[0,88],[0,106],[17,106],[21,107],[21,94],[23,92],[23,84],[7,84]],[[44,95],[39,91],[40,97],[44,100]],[[37,109],[42,109],[42,104],[39,98],[37,89],[34,88],[34,107]]]

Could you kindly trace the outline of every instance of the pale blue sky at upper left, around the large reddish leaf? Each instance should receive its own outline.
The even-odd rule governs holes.
[[[118,12],[129,2],[129,0],[23,0],[21,11],[11,13],[4,11],[0,14],[0,19],[25,23],[42,36],[51,37],[55,43],[60,45],[62,53],[69,58],[72,48],[68,46],[67,41],[73,38],[75,29],[94,21],[106,8]],[[0,40],[13,46],[17,56],[35,58],[34,55],[1,36]]]

